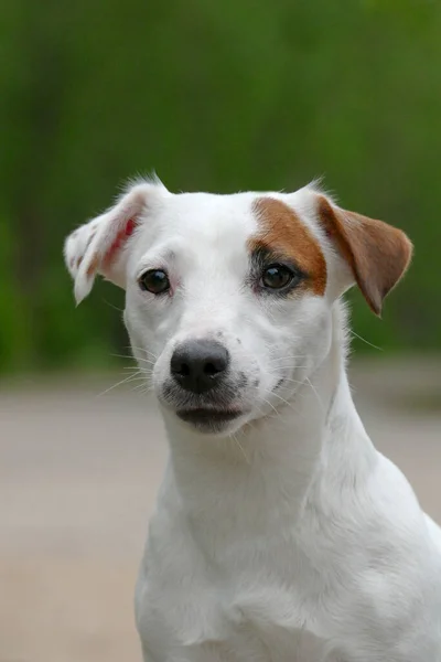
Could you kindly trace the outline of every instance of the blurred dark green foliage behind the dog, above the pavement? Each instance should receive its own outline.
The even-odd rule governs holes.
[[[75,310],[62,244],[152,169],[219,192],[324,174],[416,244],[381,322],[352,297],[354,329],[439,348],[440,34],[429,0],[6,0],[0,370],[96,365],[127,344],[122,292],[99,285]]]

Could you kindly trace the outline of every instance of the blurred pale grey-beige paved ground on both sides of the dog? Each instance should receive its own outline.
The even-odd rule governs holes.
[[[0,662],[140,662],[133,583],[165,448],[146,397],[97,397],[114,381],[0,384]],[[370,362],[352,382],[441,521],[441,364]]]

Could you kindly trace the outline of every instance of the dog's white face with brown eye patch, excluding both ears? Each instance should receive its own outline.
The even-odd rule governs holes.
[[[318,239],[283,202],[165,199],[133,242],[125,313],[162,405],[228,431],[287,399],[327,351],[325,281]]]

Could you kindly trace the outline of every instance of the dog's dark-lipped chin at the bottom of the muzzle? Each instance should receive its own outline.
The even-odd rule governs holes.
[[[246,413],[241,409],[215,409],[197,407],[175,410],[178,418],[187,427],[203,435],[232,435],[244,423]]]

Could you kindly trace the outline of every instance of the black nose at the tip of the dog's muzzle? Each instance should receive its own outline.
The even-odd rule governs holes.
[[[222,381],[228,367],[228,351],[215,340],[192,340],[173,352],[170,371],[192,393],[204,393]]]

